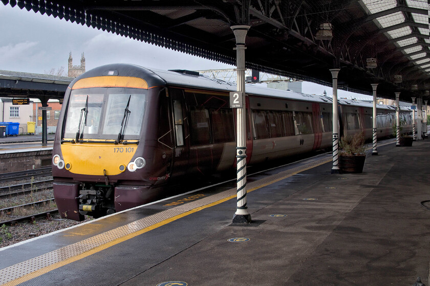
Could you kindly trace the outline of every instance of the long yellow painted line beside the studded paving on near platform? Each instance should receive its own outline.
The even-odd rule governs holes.
[[[294,176],[294,175],[296,175],[296,174],[298,174],[298,173],[302,173],[302,172],[305,172],[305,171],[307,171],[307,170],[313,169],[313,168],[315,168],[315,167],[317,167],[317,166],[319,166],[319,165],[326,164],[326,163],[328,163],[328,162],[330,162],[330,161],[332,161],[332,158],[330,158],[330,159],[328,159],[328,160],[326,160],[326,161],[320,162],[320,163],[318,163],[318,164],[315,164],[315,165],[309,166],[308,168],[304,168],[304,169],[300,169],[300,170],[298,170],[298,171],[296,171],[296,172],[292,172],[291,174],[288,174],[288,175],[286,175],[286,176],[284,176],[284,177],[282,177],[282,178],[277,178],[277,179],[275,179],[275,180],[273,180],[273,181],[270,181],[270,182],[267,182],[267,183],[265,183],[265,184],[262,184],[262,185],[259,185],[259,186],[256,186],[256,187],[253,187],[253,188],[251,188],[251,189],[248,189],[248,190],[247,190],[247,193],[250,193],[250,192],[252,192],[253,190],[256,190],[256,189],[259,189],[259,188],[262,188],[262,187],[268,186],[268,185],[270,185],[270,184],[276,183],[276,182],[278,182],[278,181],[284,180],[284,179],[289,178],[289,177],[291,177],[291,176]],[[30,279],[33,279],[33,278],[36,278],[36,277],[41,276],[41,275],[43,275],[43,274],[46,274],[46,273],[48,273],[48,272],[50,272],[50,271],[52,271],[52,270],[55,270],[55,269],[57,269],[57,268],[59,268],[59,267],[62,267],[62,266],[68,265],[68,264],[70,264],[70,263],[73,263],[74,261],[77,261],[77,260],[79,260],[79,259],[82,259],[82,258],[88,257],[88,256],[90,256],[90,255],[92,255],[92,254],[95,254],[95,253],[97,253],[97,252],[100,252],[100,251],[102,251],[102,250],[104,250],[104,249],[107,249],[107,248],[109,248],[109,247],[112,247],[112,246],[114,246],[114,245],[117,245],[117,244],[119,244],[119,243],[121,243],[121,242],[124,242],[124,241],[130,240],[130,239],[132,239],[133,237],[136,237],[136,236],[138,236],[138,235],[140,235],[140,234],[143,234],[143,233],[148,232],[148,231],[150,231],[150,230],[156,229],[156,228],[158,228],[158,227],[160,227],[160,226],[166,225],[166,224],[171,223],[171,222],[173,222],[173,221],[179,220],[180,218],[186,217],[186,216],[188,216],[189,214],[192,214],[192,213],[198,212],[198,211],[203,210],[203,209],[205,209],[205,208],[209,208],[209,207],[212,207],[212,206],[218,205],[218,204],[220,204],[220,203],[226,202],[226,201],[231,200],[231,199],[233,199],[233,198],[236,198],[236,195],[232,195],[232,196],[226,197],[226,198],[224,198],[224,199],[218,200],[218,201],[216,201],[216,202],[213,202],[213,203],[210,203],[210,204],[207,204],[207,205],[201,206],[201,207],[193,208],[193,209],[191,209],[191,210],[189,210],[189,211],[186,211],[186,212],[184,212],[184,213],[178,214],[178,215],[177,215],[177,216],[175,216],[175,217],[171,217],[171,218],[166,219],[166,220],[164,220],[164,221],[162,221],[162,222],[156,223],[156,224],[154,224],[154,225],[152,225],[152,226],[148,226],[148,227],[143,228],[143,229],[141,229],[141,230],[138,230],[138,231],[136,231],[136,232],[133,232],[133,233],[130,233],[130,234],[124,235],[124,236],[122,236],[122,237],[119,237],[118,239],[115,239],[115,240],[111,241],[111,242],[108,242],[108,243],[105,243],[105,244],[103,244],[103,245],[97,246],[97,247],[95,247],[95,248],[93,248],[93,249],[91,249],[91,250],[88,250],[88,251],[82,252],[81,254],[75,255],[75,256],[70,257],[70,258],[68,258],[68,259],[65,259],[65,260],[63,260],[63,261],[59,261],[59,262],[54,263],[54,264],[52,264],[52,265],[50,265],[50,266],[47,266],[47,267],[41,268],[41,269],[39,269],[39,270],[36,270],[36,271],[34,271],[34,272],[32,272],[32,273],[26,274],[26,275],[24,275],[24,276],[22,276],[22,277],[16,278],[16,279],[14,279],[14,280],[12,280],[12,281],[6,282],[5,284],[2,284],[2,286],[15,286],[15,285],[18,285],[18,284],[20,284],[20,283],[24,283],[24,282],[26,282],[26,281],[28,281],[28,280],[30,280]]]

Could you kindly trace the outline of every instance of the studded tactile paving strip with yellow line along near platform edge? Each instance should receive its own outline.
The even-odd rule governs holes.
[[[325,157],[266,177],[264,179],[251,182],[247,184],[248,192],[252,192],[252,190],[257,188],[267,186],[274,182],[293,176],[297,173],[312,169],[315,166],[330,162],[331,160],[331,156],[330,159]],[[49,253],[23,261],[22,263],[4,268],[0,270],[0,284],[8,286],[17,285],[52,271],[58,267],[67,265],[73,261],[109,248],[110,246],[131,239],[132,237],[145,233],[161,225],[182,218],[189,213],[197,212],[206,207],[216,205],[235,197],[236,188],[231,188],[222,193],[161,211],[136,222],[95,235],[81,242],[62,247]]]

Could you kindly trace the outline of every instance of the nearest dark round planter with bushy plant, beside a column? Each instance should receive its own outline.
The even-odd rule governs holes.
[[[340,138],[339,169],[342,173],[362,173],[366,158],[364,133]]]

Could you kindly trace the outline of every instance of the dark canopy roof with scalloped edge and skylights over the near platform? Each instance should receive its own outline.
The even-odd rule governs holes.
[[[340,67],[340,88],[404,101],[430,89],[427,0],[0,1],[229,64],[247,24],[247,68],[330,86]]]

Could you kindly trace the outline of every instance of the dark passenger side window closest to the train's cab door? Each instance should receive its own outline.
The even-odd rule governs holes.
[[[202,106],[190,106],[191,145],[210,144],[209,111]]]

